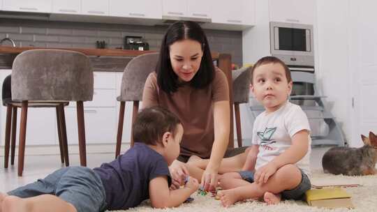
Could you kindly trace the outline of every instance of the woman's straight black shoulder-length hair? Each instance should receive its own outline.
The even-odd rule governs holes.
[[[195,22],[180,21],[172,24],[163,36],[161,50],[156,66],[158,86],[166,93],[174,93],[178,89],[178,76],[172,70],[170,63],[170,45],[179,40],[196,40],[202,46],[203,56],[200,61],[200,68],[190,81],[190,85],[196,89],[208,86],[214,79],[214,63],[208,40],[204,31]]]

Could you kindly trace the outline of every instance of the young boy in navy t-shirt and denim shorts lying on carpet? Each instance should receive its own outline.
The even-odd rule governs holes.
[[[156,208],[182,204],[199,184],[170,190],[168,166],[179,155],[182,123],[165,109],[150,107],[133,124],[135,146],[101,167],[65,167],[8,192],[0,193],[0,212],[105,211],[128,209],[151,199]]]

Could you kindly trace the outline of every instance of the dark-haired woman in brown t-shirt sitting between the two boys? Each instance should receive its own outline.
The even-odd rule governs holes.
[[[214,68],[207,37],[195,22],[176,22],[165,33],[156,73],[145,82],[142,104],[168,108],[183,123],[181,153],[170,166],[173,184],[182,183],[188,175],[184,163],[193,159],[191,156],[209,158],[201,175],[205,190],[215,187],[219,170],[227,164],[242,167],[244,160],[238,166],[234,160],[221,162],[224,154],[233,156],[244,149],[226,151],[230,133],[228,82],[226,75]]]

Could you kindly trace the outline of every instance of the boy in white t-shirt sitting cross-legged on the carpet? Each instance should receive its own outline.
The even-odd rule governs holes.
[[[253,145],[241,172],[220,178],[221,204],[263,198],[267,204],[302,199],[309,180],[310,128],[301,107],[288,101],[290,70],[274,56],[260,59],[251,70],[251,91],[265,111],[253,125]]]

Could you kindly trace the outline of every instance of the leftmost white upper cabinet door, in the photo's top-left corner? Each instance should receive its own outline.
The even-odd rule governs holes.
[[[3,10],[30,13],[51,13],[52,0],[3,0]]]

